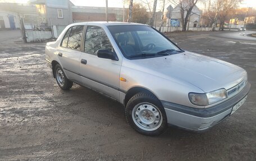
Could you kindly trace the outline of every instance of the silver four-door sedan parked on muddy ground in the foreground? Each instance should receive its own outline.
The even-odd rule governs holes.
[[[203,132],[231,116],[250,90],[246,71],[181,49],[151,26],[68,25],[45,59],[62,90],[73,82],[120,102],[129,125],[157,136],[168,126]]]

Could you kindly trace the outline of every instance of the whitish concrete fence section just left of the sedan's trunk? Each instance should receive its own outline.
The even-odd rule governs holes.
[[[33,30],[26,30],[26,37],[27,42],[42,42],[45,39],[51,39],[52,38],[52,32],[51,31],[33,31]]]

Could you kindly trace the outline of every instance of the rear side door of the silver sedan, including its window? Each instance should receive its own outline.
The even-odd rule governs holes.
[[[58,50],[58,58],[61,61],[63,70],[67,78],[70,80],[80,80],[80,56],[81,56],[81,38],[84,26],[72,26],[67,30],[63,37],[60,49]]]

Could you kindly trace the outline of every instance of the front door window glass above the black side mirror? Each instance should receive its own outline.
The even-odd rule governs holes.
[[[113,50],[105,31],[98,26],[88,26],[85,36],[84,51],[88,54],[97,55],[97,50]]]

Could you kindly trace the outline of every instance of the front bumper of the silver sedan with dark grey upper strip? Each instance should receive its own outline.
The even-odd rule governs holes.
[[[210,108],[191,108],[184,105],[161,101],[166,111],[167,122],[186,130],[203,131],[220,123],[230,116],[232,108],[249,93],[250,83],[247,82],[239,94],[225,102]]]

